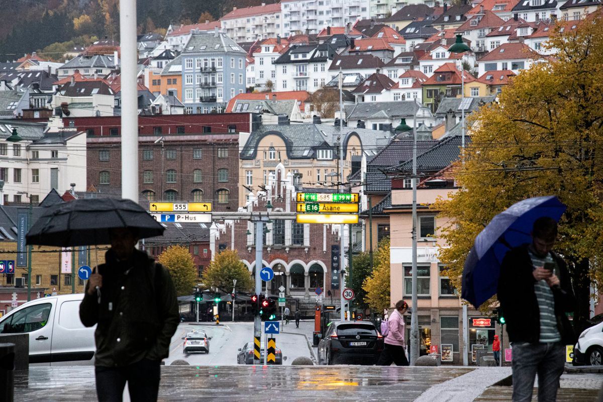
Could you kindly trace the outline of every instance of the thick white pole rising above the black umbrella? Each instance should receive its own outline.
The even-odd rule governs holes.
[[[121,196],[138,203],[136,0],[119,2],[121,46]]]

